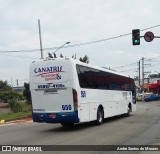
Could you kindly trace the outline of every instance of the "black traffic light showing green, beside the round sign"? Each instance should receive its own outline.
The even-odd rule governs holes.
[[[132,30],[132,43],[133,45],[140,45],[140,30],[139,29]]]

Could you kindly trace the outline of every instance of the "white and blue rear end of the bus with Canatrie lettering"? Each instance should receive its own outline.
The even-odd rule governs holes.
[[[32,63],[30,89],[34,122],[79,122],[72,68],[67,59]]]

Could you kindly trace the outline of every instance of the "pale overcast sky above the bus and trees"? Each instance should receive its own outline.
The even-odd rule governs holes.
[[[145,72],[156,74],[160,39],[141,38],[141,44],[133,46],[131,33],[140,29],[141,36],[147,31],[160,36],[159,6],[159,0],[0,0],[0,80],[13,86],[17,79],[19,86],[29,82],[29,66],[41,58],[38,19],[44,57],[70,42],[57,51],[58,56],[87,55],[90,64],[131,77],[138,76],[138,61],[144,57]]]

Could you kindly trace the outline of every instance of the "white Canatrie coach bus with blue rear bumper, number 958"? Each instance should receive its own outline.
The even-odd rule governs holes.
[[[72,58],[33,62],[30,90],[34,122],[101,124],[136,110],[132,78]]]

